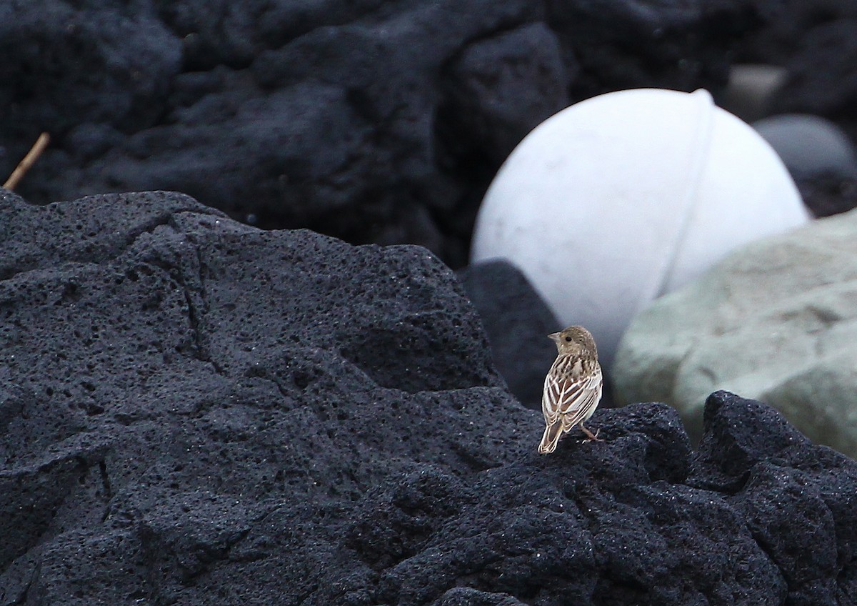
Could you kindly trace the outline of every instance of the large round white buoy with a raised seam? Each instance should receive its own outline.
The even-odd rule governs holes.
[[[512,261],[609,364],[653,299],[809,218],[770,145],[707,91],[620,91],[518,144],[482,201],[471,261]]]

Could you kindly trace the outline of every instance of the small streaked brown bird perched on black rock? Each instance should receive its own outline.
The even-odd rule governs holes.
[[[544,428],[538,452],[553,453],[560,437],[580,425],[586,441],[601,441],[598,433],[584,427],[601,401],[603,377],[595,339],[584,327],[567,327],[548,334],[556,341],[557,356],[544,379],[542,413]]]

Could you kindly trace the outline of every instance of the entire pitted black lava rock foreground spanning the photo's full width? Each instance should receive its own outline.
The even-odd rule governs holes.
[[[716,393],[542,419],[424,249],[0,199],[0,604],[857,599],[857,465]]]

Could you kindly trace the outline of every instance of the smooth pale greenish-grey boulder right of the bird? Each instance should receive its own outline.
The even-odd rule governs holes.
[[[698,435],[729,389],[857,455],[857,211],[740,249],[632,321],[614,365],[622,402],[679,408]]]

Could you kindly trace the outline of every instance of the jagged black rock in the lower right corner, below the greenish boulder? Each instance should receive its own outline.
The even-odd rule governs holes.
[[[779,568],[787,603],[857,599],[857,465],[813,446],[782,415],[731,393],[711,394],[692,485],[718,486]]]

